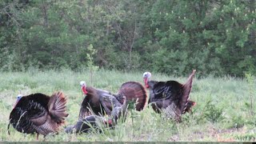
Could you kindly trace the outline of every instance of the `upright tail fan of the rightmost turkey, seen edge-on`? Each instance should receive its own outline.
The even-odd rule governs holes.
[[[195,71],[196,70],[192,71],[192,74],[190,74],[190,77],[187,78],[186,83],[182,86],[182,99],[179,102],[181,106],[180,110],[182,113],[186,110],[188,99],[190,98],[190,91],[192,89],[192,82],[193,82]]]

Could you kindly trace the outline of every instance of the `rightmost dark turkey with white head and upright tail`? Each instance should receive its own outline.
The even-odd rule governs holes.
[[[143,78],[146,88],[150,89],[149,103],[152,103],[154,111],[161,113],[163,109],[167,115],[177,121],[180,121],[181,114],[190,112],[192,106],[196,104],[189,100],[195,71],[193,70],[184,85],[176,81],[150,81],[150,72],[145,72]]]

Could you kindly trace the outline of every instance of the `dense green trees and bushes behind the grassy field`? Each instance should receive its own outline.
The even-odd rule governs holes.
[[[2,0],[0,69],[256,74],[254,0]]]

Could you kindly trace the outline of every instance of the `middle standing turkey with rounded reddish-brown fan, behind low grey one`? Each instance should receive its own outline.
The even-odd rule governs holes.
[[[91,115],[91,111],[96,115],[111,114],[113,107],[122,106],[122,97],[126,96],[127,102],[136,102],[136,110],[143,110],[146,105],[146,90],[138,82],[123,83],[118,94],[111,94],[106,90],[98,90],[93,87],[86,87],[86,82],[80,82],[82,92],[86,95],[82,102],[79,119]]]

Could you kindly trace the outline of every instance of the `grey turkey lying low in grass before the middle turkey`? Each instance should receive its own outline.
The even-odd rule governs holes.
[[[65,132],[68,134],[71,133],[88,133],[93,128],[94,130],[98,130],[101,132],[101,127],[110,127],[114,128],[114,126],[118,123],[119,118],[126,119],[126,110],[128,102],[126,101],[126,97],[123,97],[124,104],[115,106],[111,111],[110,118],[103,118],[98,115],[89,115],[86,118],[78,120],[78,122],[74,126],[67,126]]]

